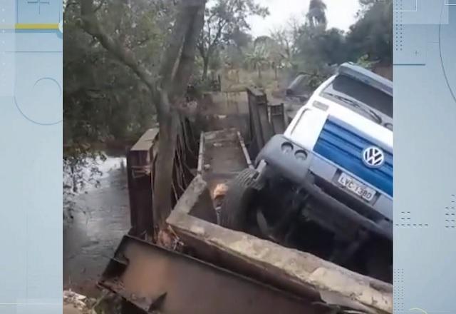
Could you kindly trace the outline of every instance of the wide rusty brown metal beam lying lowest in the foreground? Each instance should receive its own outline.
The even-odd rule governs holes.
[[[130,313],[314,314],[318,309],[309,300],[130,236],[99,284],[134,305]]]

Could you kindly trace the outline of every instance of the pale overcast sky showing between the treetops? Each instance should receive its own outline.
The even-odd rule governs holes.
[[[286,26],[291,19],[304,21],[310,0],[259,0],[263,6],[269,7],[269,16],[262,19],[259,16],[249,17],[254,37],[269,35],[272,29]],[[328,27],[336,27],[347,31],[355,21],[359,9],[359,0],[325,0]]]

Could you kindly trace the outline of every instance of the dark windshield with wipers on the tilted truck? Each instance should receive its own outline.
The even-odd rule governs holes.
[[[393,97],[348,76],[336,76],[323,90],[322,96],[358,111],[380,124],[393,123]]]

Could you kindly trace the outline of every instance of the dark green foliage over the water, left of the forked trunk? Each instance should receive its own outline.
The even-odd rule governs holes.
[[[167,0],[95,1],[95,5],[103,29],[154,71],[174,5]],[[99,143],[137,138],[154,123],[155,108],[138,77],[81,29],[78,1],[68,1],[63,19],[63,171],[68,176],[63,188],[69,195],[93,179],[84,171],[90,169],[93,175],[98,171],[95,161],[103,160]]]

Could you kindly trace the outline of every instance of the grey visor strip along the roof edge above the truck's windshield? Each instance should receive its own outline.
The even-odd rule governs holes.
[[[344,75],[362,81],[363,83],[372,86],[373,88],[380,89],[384,93],[393,96],[393,82],[387,78],[383,78],[378,74],[368,71],[361,66],[356,66],[350,62],[341,64],[338,68],[338,75]]]

